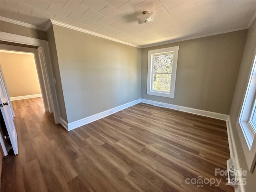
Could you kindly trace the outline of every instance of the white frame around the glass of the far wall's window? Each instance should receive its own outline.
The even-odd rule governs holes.
[[[168,47],[162,49],[155,49],[148,51],[148,82],[147,82],[147,94],[174,98],[175,91],[175,82],[176,82],[176,71],[177,71],[177,63],[178,63],[178,51],[179,46]],[[173,62],[172,62],[172,77],[171,77],[171,88],[170,92],[156,91],[153,90],[153,66],[154,66],[154,55],[159,54],[170,54],[173,53]]]

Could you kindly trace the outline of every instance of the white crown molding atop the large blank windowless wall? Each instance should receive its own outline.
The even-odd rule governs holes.
[[[76,30],[76,31],[80,31],[80,32],[83,32],[83,33],[87,33],[87,34],[90,34],[90,35],[94,35],[94,36],[97,36],[97,37],[108,39],[108,40],[115,41],[115,42],[118,42],[118,43],[126,44],[126,45],[133,46],[133,47],[136,47],[136,48],[141,48],[141,46],[134,45],[134,44],[131,44],[131,43],[127,43],[127,42],[124,42],[124,41],[121,41],[121,40],[118,40],[118,39],[115,39],[115,38],[112,38],[112,37],[108,37],[108,36],[105,36],[105,35],[102,35],[102,34],[98,34],[98,33],[92,32],[92,31],[88,31],[86,29],[81,29],[81,28],[71,26],[69,24],[65,24],[65,23],[62,23],[62,22],[55,21],[55,20],[51,20],[51,21],[52,21],[52,24],[55,24],[55,25],[58,25],[58,26],[70,28],[70,29],[73,29],[73,30]]]

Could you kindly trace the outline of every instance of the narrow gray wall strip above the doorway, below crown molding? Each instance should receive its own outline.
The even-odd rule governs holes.
[[[47,40],[46,32],[44,31],[16,25],[2,20],[0,20],[0,31],[26,37],[32,37],[36,39]]]

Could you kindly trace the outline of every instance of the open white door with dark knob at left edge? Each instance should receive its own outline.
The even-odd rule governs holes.
[[[4,123],[6,125],[10,141],[12,143],[14,154],[18,154],[17,133],[13,123],[12,109],[8,102],[9,100],[6,93],[6,88],[4,87],[4,77],[2,71],[0,70],[0,110],[4,118]]]

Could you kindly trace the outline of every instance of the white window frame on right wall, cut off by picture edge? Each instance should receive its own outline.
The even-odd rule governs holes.
[[[238,123],[236,124],[244,156],[250,172],[253,172],[256,163],[256,127],[252,124],[252,116],[256,109],[256,52],[252,63],[252,70],[246,88]],[[243,137],[244,136],[244,137]]]

